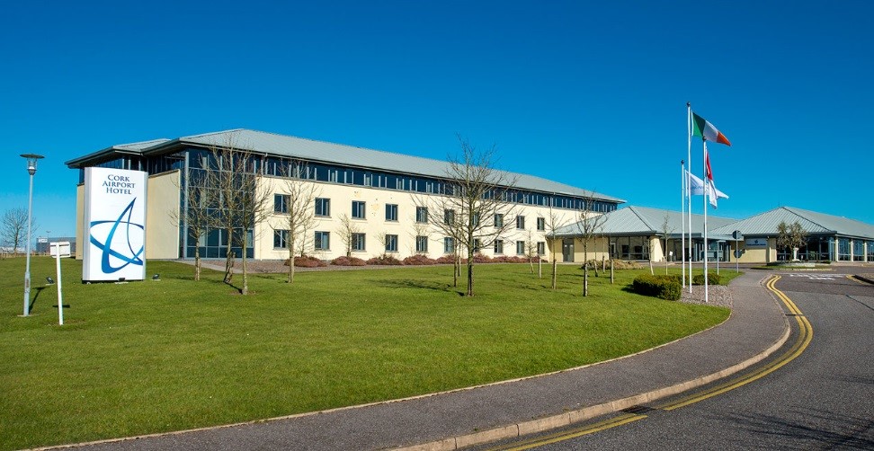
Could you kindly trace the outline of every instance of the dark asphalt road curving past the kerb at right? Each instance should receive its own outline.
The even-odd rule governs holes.
[[[874,286],[836,272],[782,274],[775,283],[812,337],[787,357],[809,335],[793,317],[784,349],[731,380],[776,367],[765,376],[672,410],[680,398],[483,448],[874,449]]]

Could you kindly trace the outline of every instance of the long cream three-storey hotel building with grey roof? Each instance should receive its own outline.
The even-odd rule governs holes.
[[[246,231],[251,238],[245,249],[248,258],[288,257],[288,225],[283,219],[289,196],[286,174],[317,185],[317,199],[311,206],[316,225],[308,236],[309,255],[332,260],[346,253],[338,239],[342,217],[348,217],[358,230],[352,237],[353,257],[366,260],[388,253],[398,259],[413,254],[437,258],[455,250],[454,240],[428,225],[430,215],[442,217],[444,212],[429,212],[417,202],[423,196],[441,196],[448,162],[248,129],[115,145],[67,161],[68,167],[80,172],[76,240],[86,243],[82,241],[87,230],[83,224],[85,168],[138,170],[148,174],[146,258],[193,258],[195,247],[202,257],[225,257],[229,237],[224,230],[208,230],[199,240],[188,233],[185,208],[190,199],[185,187],[192,177],[214,171],[212,150],[228,143],[235,152],[258,155],[251,171],[273,193],[269,217]],[[284,170],[290,167],[306,170]],[[532,242],[537,252],[546,254],[546,219],[550,214],[570,222],[579,217],[584,202],[597,213],[611,212],[624,202],[527,174],[511,176],[515,179],[509,199],[515,206],[513,217],[494,220],[512,221],[514,226],[492,246],[480,250],[489,256],[524,255],[529,252],[527,243]],[[243,252],[239,247],[231,250],[236,255]],[[82,258],[80,250],[76,258]]]

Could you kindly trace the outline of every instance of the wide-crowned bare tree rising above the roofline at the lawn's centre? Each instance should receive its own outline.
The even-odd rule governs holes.
[[[495,146],[477,151],[460,136],[459,146],[461,154],[449,162],[443,195],[429,197],[421,205],[445,213],[431,215],[430,222],[455,241],[456,252],[466,252],[466,294],[474,296],[474,253],[491,247],[510,227],[517,193],[511,174],[495,169]]]

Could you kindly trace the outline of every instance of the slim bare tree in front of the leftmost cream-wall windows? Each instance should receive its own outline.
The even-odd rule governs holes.
[[[281,231],[285,234],[286,245],[289,248],[289,279],[294,282],[295,256],[303,255],[307,250],[308,232],[316,226],[316,198],[319,190],[316,184],[299,178],[301,168],[289,165],[281,171],[284,190],[281,192]],[[275,209],[275,208],[274,208]]]

